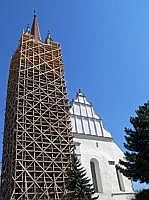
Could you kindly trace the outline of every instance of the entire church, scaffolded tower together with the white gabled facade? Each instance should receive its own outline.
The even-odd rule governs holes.
[[[9,68],[0,200],[65,199],[73,143],[100,200],[131,199],[123,152],[80,90],[69,110],[61,46],[34,14]]]

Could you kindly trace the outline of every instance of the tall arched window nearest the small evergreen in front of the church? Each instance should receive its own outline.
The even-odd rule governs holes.
[[[90,167],[91,167],[92,182],[95,188],[95,192],[102,193],[103,188],[102,188],[100,168],[99,168],[98,161],[96,159],[91,159]]]

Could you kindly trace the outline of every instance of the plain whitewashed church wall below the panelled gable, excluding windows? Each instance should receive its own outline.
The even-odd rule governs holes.
[[[123,158],[123,153],[118,146],[113,141],[106,142],[79,138],[74,138],[74,141],[80,143],[81,163],[85,167],[90,179],[92,179],[91,159],[96,159],[99,162],[103,190],[103,193],[100,195],[102,196],[101,200],[108,198],[117,199],[120,197],[126,200],[128,195],[124,195],[124,193],[132,193],[133,190],[130,180],[122,175],[125,191],[120,191],[115,165],[118,163],[119,158]],[[110,165],[109,161],[113,161],[112,164],[114,164]]]

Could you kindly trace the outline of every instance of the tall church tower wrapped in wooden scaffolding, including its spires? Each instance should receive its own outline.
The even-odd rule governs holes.
[[[61,200],[72,135],[60,45],[41,40],[37,17],[12,56],[1,200]]]

